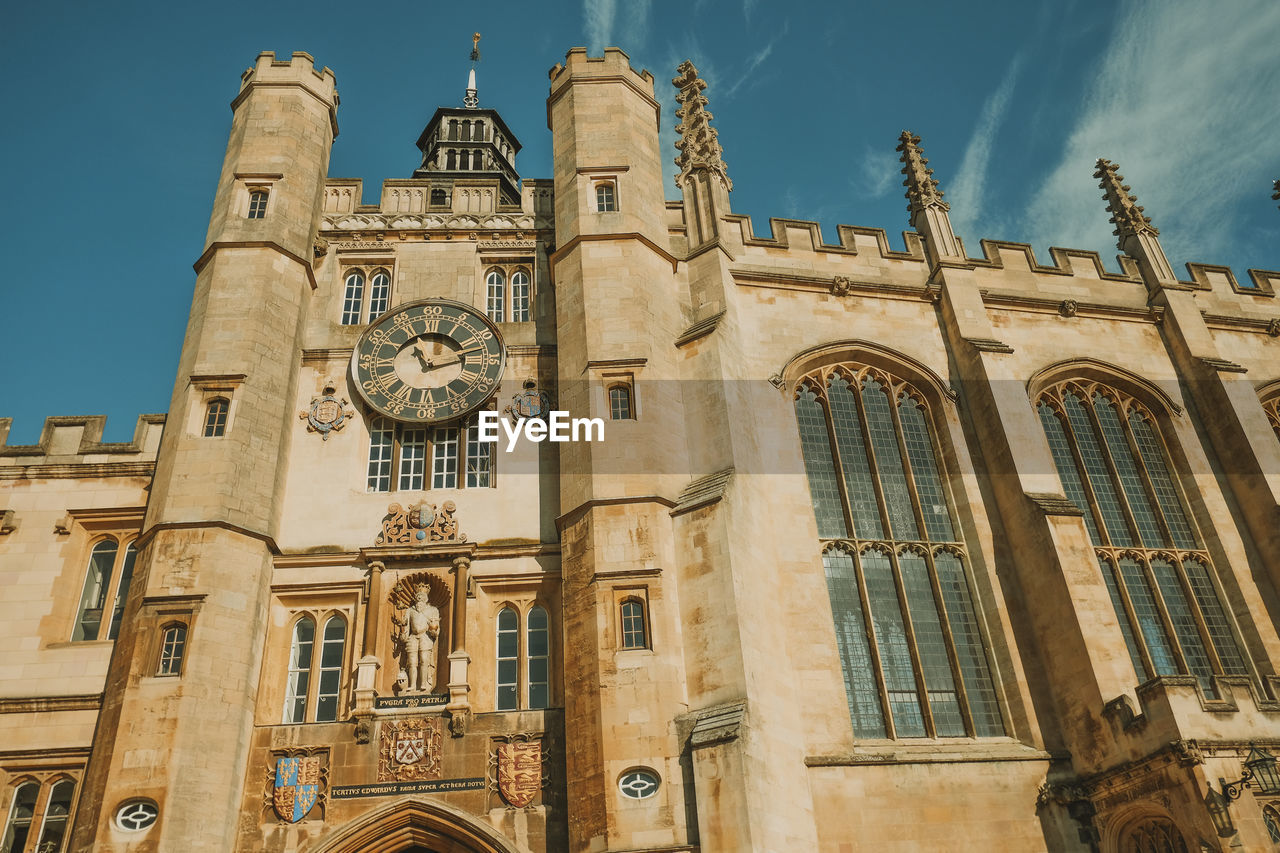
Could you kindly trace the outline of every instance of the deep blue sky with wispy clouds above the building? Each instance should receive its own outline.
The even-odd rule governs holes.
[[[909,228],[895,146],[923,138],[972,255],[982,238],[1089,248],[1116,269],[1093,161],[1120,164],[1165,250],[1280,269],[1275,0],[541,0],[484,4],[13,4],[0,32],[0,418],[108,415],[106,441],[169,405],[230,127],[255,56],[338,78],[332,177],[376,202],[408,177],[438,105],[461,104],[479,31],[481,106],[550,177],[548,69],[622,47],[649,69],[675,158],[692,59],[735,213]],[[668,199],[676,197],[668,161]]]

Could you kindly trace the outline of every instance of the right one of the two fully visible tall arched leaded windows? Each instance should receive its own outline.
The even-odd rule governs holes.
[[[1185,508],[1160,428],[1137,400],[1069,380],[1037,401],[1066,497],[1084,511],[1139,681],[1249,675],[1217,573]]]

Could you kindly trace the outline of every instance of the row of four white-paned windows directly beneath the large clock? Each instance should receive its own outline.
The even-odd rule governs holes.
[[[493,450],[494,442],[480,441],[476,418],[434,429],[375,418],[369,425],[365,485],[369,492],[489,488]]]

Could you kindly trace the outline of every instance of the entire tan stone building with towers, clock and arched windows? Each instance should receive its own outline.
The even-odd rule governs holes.
[[[169,414],[0,420],[0,850],[1280,844],[1280,273],[1105,160],[1119,272],[966,248],[910,133],[902,251],[756,236],[673,82],[678,200],[576,49],[549,179],[472,82],[366,205],[244,72]]]

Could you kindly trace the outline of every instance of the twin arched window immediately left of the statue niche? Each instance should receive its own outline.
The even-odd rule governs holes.
[[[316,620],[305,615],[293,624],[284,722],[333,722],[338,719],[346,643],[347,620],[338,613],[324,620],[319,654]]]

